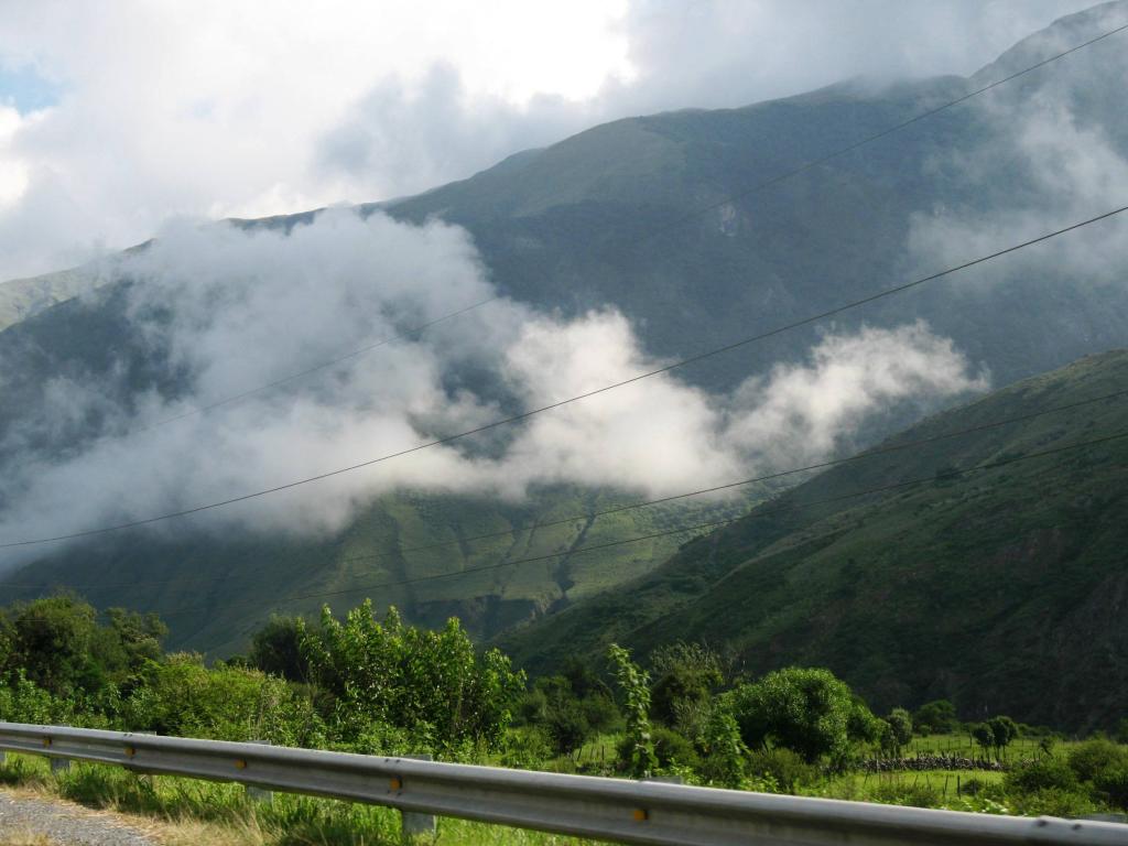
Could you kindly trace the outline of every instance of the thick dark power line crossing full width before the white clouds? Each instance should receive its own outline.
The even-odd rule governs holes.
[[[3,543],[3,544],[0,544],[0,549],[10,549],[10,548],[14,548],[14,547],[34,546],[34,545],[37,545],[37,544],[49,544],[49,543],[55,543],[55,541],[61,541],[61,540],[70,540],[70,539],[81,538],[81,537],[91,537],[91,536],[95,536],[95,535],[105,535],[105,534],[108,534],[108,532],[112,532],[112,531],[121,531],[123,529],[131,529],[131,528],[135,528],[135,527],[139,527],[139,526],[148,526],[150,523],[160,522],[162,520],[170,520],[170,519],[174,519],[174,518],[187,517],[190,514],[196,514],[196,513],[200,513],[200,512],[203,512],[203,511],[210,511],[210,510],[213,510],[213,509],[223,508],[226,505],[232,505],[232,504],[238,503],[238,502],[245,502],[247,500],[257,499],[259,496],[266,496],[268,494],[279,493],[281,491],[288,491],[290,488],[298,487],[300,485],[307,485],[307,484],[309,484],[311,482],[320,482],[320,481],[326,479],[326,478],[332,478],[334,476],[340,476],[340,475],[345,474],[345,473],[351,473],[353,470],[359,470],[359,469],[361,469],[363,467],[371,467],[371,466],[380,464],[382,461],[388,461],[388,460],[394,459],[394,458],[400,458],[403,456],[407,456],[407,455],[411,455],[411,453],[414,453],[414,452],[418,452],[421,450],[429,449],[431,447],[438,447],[438,446],[441,446],[441,444],[444,444],[444,443],[451,443],[453,441],[461,440],[464,438],[468,438],[468,437],[474,435],[474,434],[481,434],[482,432],[487,432],[490,430],[497,429],[499,426],[510,425],[510,424],[518,423],[518,422],[523,421],[523,420],[528,420],[529,417],[536,416],[537,414],[543,414],[544,412],[553,411],[555,408],[561,408],[561,407],[563,407],[565,405],[570,405],[572,403],[576,403],[576,402],[579,402],[581,399],[588,399],[590,397],[598,396],[600,394],[606,394],[606,393],[608,393],[610,390],[615,390],[617,388],[626,387],[627,385],[634,385],[635,382],[642,381],[643,379],[649,379],[649,378],[654,377],[654,376],[660,376],[662,373],[671,372],[671,371],[677,370],[679,368],[684,368],[687,364],[693,364],[693,363],[696,363],[698,361],[704,361],[706,359],[711,359],[711,358],[713,358],[715,355],[720,355],[722,353],[732,352],[733,350],[738,350],[740,347],[747,346],[747,345],[756,343],[758,341],[764,341],[766,338],[774,337],[776,335],[781,335],[781,334],[783,334],[785,332],[790,332],[792,329],[796,329],[796,328],[800,328],[802,326],[809,326],[809,325],[818,323],[820,320],[825,320],[828,317],[834,317],[836,315],[840,315],[840,314],[844,314],[846,311],[851,311],[853,309],[860,308],[860,307],[869,305],[871,302],[875,302],[875,301],[884,299],[887,297],[892,297],[893,294],[904,293],[905,291],[911,290],[914,288],[917,288],[919,285],[926,284],[928,282],[933,282],[933,281],[935,281],[937,279],[942,279],[944,276],[951,275],[951,274],[957,273],[959,271],[963,271],[963,270],[967,270],[969,267],[973,267],[976,265],[982,264],[985,262],[989,262],[992,259],[998,258],[1001,256],[1008,255],[1011,253],[1015,253],[1015,252],[1017,252],[1020,249],[1024,249],[1024,248],[1033,246],[1036,244],[1041,244],[1042,241],[1047,241],[1047,240],[1049,240],[1051,238],[1056,238],[1056,237],[1058,237],[1060,235],[1065,235],[1066,232],[1072,232],[1072,231],[1074,231],[1076,229],[1081,229],[1082,227],[1086,227],[1086,226],[1090,226],[1092,223],[1096,223],[1099,221],[1107,220],[1107,219],[1112,218],[1116,214],[1120,214],[1120,213],[1122,213],[1125,211],[1128,211],[1128,205],[1123,205],[1123,206],[1120,206],[1119,209],[1113,209],[1112,211],[1108,211],[1108,212],[1104,212],[1102,214],[1098,214],[1098,215],[1095,215],[1093,218],[1089,218],[1087,220],[1083,220],[1083,221],[1079,221],[1079,222],[1076,222],[1076,223],[1072,223],[1072,224],[1069,224],[1067,227],[1063,227],[1061,229],[1057,229],[1057,230],[1054,230],[1051,232],[1047,232],[1045,235],[1040,235],[1037,238],[1031,238],[1031,239],[1022,241],[1020,244],[1015,244],[1013,246],[1005,247],[1003,249],[996,250],[995,253],[990,253],[989,255],[980,256],[978,258],[973,258],[973,259],[970,259],[968,262],[963,262],[962,264],[959,264],[959,265],[955,265],[953,267],[949,267],[946,270],[940,271],[938,273],[933,273],[933,274],[929,274],[927,276],[922,276],[920,279],[914,280],[911,282],[906,282],[904,284],[896,285],[893,288],[887,288],[887,289],[884,289],[882,291],[879,291],[876,293],[870,294],[869,297],[864,297],[864,298],[858,299],[858,300],[853,300],[853,301],[847,302],[847,303],[841,305],[841,306],[836,306],[835,308],[828,309],[826,311],[821,311],[821,312],[819,312],[817,315],[812,315],[810,317],[804,317],[804,318],[802,318],[800,320],[794,320],[794,321],[792,321],[790,324],[784,324],[783,326],[778,326],[778,327],[776,327],[774,329],[769,329],[767,332],[763,332],[763,333],[760,333],[758,335],[751,335],[751,336],[742,338],[740,341],[734,341],[734,342],[725,344],[723,346],[719,346],[719,347],[715,347],[713,350],[708,350],[706,352],[698,353],[696,355],[691,355],[691,356],[686,358],[686,359],[681,359],[681,360],[676,361],[676,362],[673,362],[671,364],[666,364],[666,365],[663,365],[661,368],[656,368],[654,370],[650,370],[647,372],[640,373],[637,376],[633,376],[633,377],[631,377],[628,379],[623,379],[623,380],[617,381],[617,382],[611,382],[610,385],[605,385],[605,386],[602,386],[600,388],[596,388],[593,390],[588,390],[588,391],[584,391],[582,394],[578,394],[575,396],[569,397],[566,399],[561,399],[561,400],[557,400],[555,403],[550,403],[548,405],[540,406],[538,408],[532,408],[532,409],[530,409],[528,412],[522,412],[521,414],[515,414],[515,415],[510,416],[510,417],[503,417],[501,420],[493,421],[492,423],[486,423],[484,425],[476,426],[474,429],[469,429],[469,430],[466,430],[464,432],[458,432],[456,434],[446,435],[443,438],[437,438],[437,439],[431,440],[431,441],[425,441],[425,442],[423,442],[421,444],[417,444],[415,447],[409,447],[407,449],[403,449],[403,450],[399,450],[397,452],[389,452],[387,455],[379,456],[379,457],[372,458],[372,459],[368,459],[365,461],[360,461],[358,464],[350,465],[347,467],[341,467],[341,468],[337,468],[337,469],[334,469],[334,470],[328,470],[326,473],[317,474],[315,476],[308,476],[306,478],[297,479],[294,482],[288,482],[285,484],[275,485],[274,487],[267,487],[267,488],[263,488],[261,491],[254,491],[252,493],[241,494],[239,496],[232,496],[232,497],[227,499],[227,500],[220,500],[218,502],[211,502],[211,503],[208,503],[208,504],[204,504],[204,505],[196,505],[194,508],[184,509],[182,511],[173,511],[173,512],[165,513],[165,514],[158,514],[156,517],[150,517],[150,518],[146,518],[146,519],[142,519],[142,520],[132,520],[130,522],[117,523],[115,526],[107,526],[107,527],[103,527],[103,528],[99,528],[99,529],[87,529],[87,530],[83,530],[83,531],[74,531],[74,532],[69,532],[69,534],[64,534],[64,535],[55,535],[53,537],[43,537],[43,538],[32,538],[32,539],[27,539],[27,540],[7,541],[7,543]]]

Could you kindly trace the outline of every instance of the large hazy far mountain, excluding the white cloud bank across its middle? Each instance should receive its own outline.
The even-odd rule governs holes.
[[[1128,157],[1128,126],[1119,107],[1128,72],[1123,34],[761,186],[962,96],[996,72],[1013,72],[1015,62],[1047,58],[1125,20],[1126,2],[1064,18],[969,79],[849,82],[744,108],[617,121],[510,157],[469,179],[362,212],[460,224],[497,289],[514,300],[564,316],[610,305],[629,318],[649,354],[695,354],[1122,202],[1116,187]],[[1102,168],[1095,177],[1093,162]],[[238,223],[292,231],[316,214]],[[863,324],[897,327],[922,317],[975,365],[989,370],[995,385],[1123,346],[1128,252],[1119,246],[1122,228],[1116,221],[1098,227],[679,374],[705,390],[728,389],[750,374],[802,360],[821,332],[849,332]],[[175,404],[191,396],[194,373],[178,363],[177,351],[130,321],[130,291],[141,284],[108,280],[90,297],[38,310],[0,332],[0,444],[7,444],[0,447],[0,478],[29,455],[63,461],[120,434],[106,409],[134,414],[155,397]],[[80,415],[60,412],[60,377],[97,386],[97,403]],[[906,425],[908,413],[891,412],[863,430],[860,440],[872,442]],[[3,495],[0,509],[19,492],[7,494],[9,503]],[[543,499],[517,508],[404,491],[367,504],[341,532],[312,540],[264,544],[237,534],[173,540],[152,534],[49,549],[7,576],[8,593],[83,585],[98,603],[178,616],[170,616],[176,646],[228,651],[275,605],[308,610],[320,601],[287,599],[294,593],[355,588],[334,600],[343,605],[363,596],[362,585],[435,572],[440,553],[408,555],[405,549],[530,525],[545,514],[581,514],[592,503],[625,499],[615,491],[569,487],[543,492]],[[543,549],[567,549],[592,532],[611,537],[617,527],[626,535],[647,534],[654,525],[698,522],[717,512],[671,505],[653,513],[661,517],[626,512],[615,523],[597,521],[590,528],[581,521],[543,545],[538,540],[532,552],[525,552],[523,540],[459,548],[453,563],[502,564]],[[600,559],[603,566],[594,555],[575,556],[566,576],[538,565],[506,581],[502,569],[466,581],[381,589],[379,599],[398,602],[416,620],[459,613],[475,634],[493,636],[638,575],[677,543],[667,538],[649,548],[620,548],[622,557]],[[395,563],[342,563],[377,554]],[[247,561],[273,562],[274,569],[257,563],[247,569]],[[491,572],[496,578],[487,578]]]

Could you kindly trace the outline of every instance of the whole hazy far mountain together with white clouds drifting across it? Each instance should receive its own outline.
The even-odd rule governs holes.
[[[146,519],[355,464],[1120,205],[1123,35],[757,186],[1126,21],[1123,2],[1070,16],[971,79],[618,121],[359,215],[173,227],[98,267],[107,284],[0,333],[0,537]],[[25,594],[89,585],[99,605],[187,617],[170,616],[180,644],[230,649],[240,626],[275,605],[312,608],[312,594],[700,522],[670,506],[578,520],[531,544],[404,552],[840,452],[989,382],[1123,345],[1126,235],[1095,224],[465,446],[97,543],[16,550],[8,566],[25,566],[11,581]],[[400,333],[297,385],[194,411]],[[680,539],[378,599],[416,619],[467,614],[493,634],[638,575]],[[377,554],[390,561],[358,559]]]

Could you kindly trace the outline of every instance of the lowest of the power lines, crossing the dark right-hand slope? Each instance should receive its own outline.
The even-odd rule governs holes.
[[[1128,438],[1128,430],[1121,430],[1121,431],[1117,432],[1116,434],[1105,435],[1103,438],[1094,438],[1094,439],[1086,440],[1086,441],[1077,441],[1077,442],[1074,442],[1074,443],[1065,444],[1063,447],[1055,447],[1052,449],[1040,450],[1038,452],[1028,452],[1028,453],[1022,455],[1022,456],[1012,456],[1010,458],[1001,458],[1001,459],[998,459],[996,461],[988,461],[987,464],[981,464],[981,465],[977,465],[975,467],[968,467],[968,468],[964,468],[964,469],[944,470],[943,475],[940,478],[942,478],[942,479],[949,479],[949,478],[954,478],[954,477],[959,477],[959,476],[966,476],[966,475],[971,474],[971,473],[981,473],[984,470],[993,470],[993,469],[997,469],[999,467],[1006,467],[1006,466],[1010,466],[1012,464],[1017,464],[1020,461],[1029,461],[1029,460],[1034,459],[1034,458],[1046,458],[1047,456],[1058,455],[1058,453],[1061,453],[1061,452],[1068,452],[1068,451],[1072,451],[1072,450],[1075,450],[1075,449],[1082,449],[1084,447],[1095,447],[1095,446],[1100,446],[1102,443],[1110,443],[1110,442],[1113,442],[1113,441],[1118,441],[1118,440],[1121,440],[1123,438]],[[888,485],[880,485],[880,486],[876,486],[876,487],[865,488],[863,491],[855,491],[855,492],[848,493],[848,494],[839,494],[837,496],[828,496],[828,497],[825,497],[825,499],[821,499],[821,500],[810,500],[808,502],[801,502],[799,504],[802,508],[810,508],[812,505],[826,505],[826,504],[830,504],[830,503],[834,503],[834,502],[839,502],[839,501],[843,501],[843,500],[856,499],[858,496],[866,496],[866,495],[870,495],[870,494],[888,493],[890,491],[896,491],[896,490],[899,490],[899,488],[909,487],[909,486],[913,486],[913,485],[926,484],[926,483],[936,482],[936,481],[937,481],[937,475],[933,474],[932,476],[920,476],[920,477],[917,477],[917,478],[906,479],[906,481],[902,481],[902,482],[895,482],[895,483],[891,483],[891,484],[888,484]],[[793,492],[788,492],[787,494],[785,494],[785,496],[790,496],[792,494],[793,494]],[[583,546],[583,547],[580,547],[578,549],[569,549],[566,552],[561,552],[561,553],[549,553],[547,555],[535,555],[535,556],[531,556],[531,557],[528,557],[528,558],[518,558],[515,561],[499,562],[499,563],[494,563],[494,564],[486,564],[486,565],[478,566],[478,567],[467,567],[466,570],[457,570],[457,571],[451,571],[449,573],[435,573],[435,574],[432,574],[432,575],[421,575],[421,576],[415,576],[415,578],[412,578],[412,579],[400,579],[398,581],[380,582],[380,583],[377,583],[377,584],[362,584],[362,585],[356,585],[356,587],[353,587],[353,588],[343,588],[343,589],[340,589],[340,590],[332,590],[332,591],[315,591],[315,592],[307,592],[307,593],[293,593],[293,594],[287,596],[287,597],[281,597],[280,599],[275,600],[274,608],[277,609],[277,607],[279,607],[277,603],[279,602],[291,602],[291,601],[297,601],[297,600],[302,600],[302,599],[328,599],[328,598],[332,598],[332,597],[347,596],[350,593],[359,593],[359,592],[365,591],[365,590],[378,590],[378,589],[381,589],[381,588],[402,588],[402,587],[407,587],[407,585],[412,585],[412,584],[420,584],[422,582],[439,581],[441,579],[453,579],[453,578],[457,578],[457,576],[460,576],[460,575],[467,575],[467,574],[470,574],[470,573],[482,573],[482,572],[487,572],[487,571],[491,571],[491,570],[501,570],[503,567],[517,566],[519,564],[532,564],[532,563],[536,563],[536,562],[549,561],[552,558],[559,558],[559,557],[564,557],[564,556],[572,556],[572,555],[580,555],[580,554],[585,554],[585,553],[599,552],[601,549],[609,549],[609,548],[616,547],[616,546],[625,546],[627,544],[638,544],[638,543],[642,543],[644,540],[653,540],[654,538],[668,537],[670,535],[680,535],[680,534],[688,532],[688,531],[699,531],[702,529],[707,529],[707,528],[719,528],[721,526],[726,526],[726,525],[730,525],[730,523],[734,523],[734,522],[738,522],[740,520],[759,519],[759,518],[763,518],[765,515],[765,513],[764,513],[765,511],[768,511],[770,513],[769,510],[773,509],[773,506],[776,508],[776,509],[782,509],[782,508],[786,508],[788,505],[790,505],[790,503],[786,502],[786,501],[784,501],[784,500],[776,500],[774,502],[767,503],[767,504],[765,504],[765,505],[756,509],[755,511],[752,511],[752,512],[750,512],[748,514],[743,514],[741,517],[731,517],[731,518],[726,518],[724,520],[713,520],[713,521],[710,521],[710,522],[696,523],[694,526],[684,526],[684,527],[680,527],[678,529],[667,529],[667,530],[663,530],[663,531],[651,532],[649,535],[642,535],[642,536],[638,536],[638,537],[625,538],[625,539],[622,539],[622,540],[611,540],[611,541],[608,541],[608,543],[605,543],[605,544],[594,544],[592,546]],[[230,607],[240,606],[240,605],[259,605],[259,600],[256,600],[256,599],[240,600],[238,602],[230,602],[230,603],[227,605],[227,607],[230,608]],[[180,607],[178,607],[177,609],[175,609],[173,611],[168,611],[168,613],[164,614],[162,616],[173,617],[173,616],[177,616],[177,615],[185,614],[185,613],[188,613],[188,611],[208,610],[209,608],[211,608],[211,606],[194,606],[194,607],[193,606],[180,606]]]

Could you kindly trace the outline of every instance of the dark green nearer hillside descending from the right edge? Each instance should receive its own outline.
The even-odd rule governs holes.
[[[950,698],[967,719],[1110,728],[1128,689],[1128,396],[1087,400],[1126,386],[1121,350],[929,417],[502,645],[544,670],[610,642],[704,641],[754,673],[829,667],[882,710]]]

